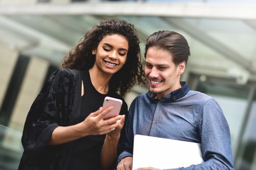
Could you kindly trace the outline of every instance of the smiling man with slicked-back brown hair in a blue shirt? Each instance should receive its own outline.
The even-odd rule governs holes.
[[[131,169],[136,134],[201,143],[204,162],[177,170],[234,170],[229,126],[220,106],[180,82],[189,55],[187,40],[176,32],[159,31],[147,39],[149,92],[131,103],[117,170]]]

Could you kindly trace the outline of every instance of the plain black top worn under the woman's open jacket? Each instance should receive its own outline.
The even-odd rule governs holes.
[[[81,114],[79,122],[82,122],[90,113],[102,106],[106,96],[121,99],[114,91],[109,89],[107,94],[99,93],[91,83],[89,71],[82,72],[85,93],[82,96]],[[124,101],[123,101],[124,102]],[[127,106],[123,104],[121,114],[127,113]],[[106,135],[85,136],[74,141],[73,151],[70,157],[69,170],[101,170],[100,153]]]

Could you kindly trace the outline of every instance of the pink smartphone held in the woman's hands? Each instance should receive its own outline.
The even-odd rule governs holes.
[[[112,105],[114,106],[114,108],[104,117],[104,119],[109,119],[119,115],[122,104],[123,104],[123,101],[120,99],[105,97],[103,106],[102,106],[102,111]]]

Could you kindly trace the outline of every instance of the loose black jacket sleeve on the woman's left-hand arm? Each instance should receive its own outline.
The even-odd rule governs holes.
[[[61,123],[59,105],[63,99],[63,90],[60,90],[63,84],[63,70],[58,70],[44,85],[28,112],[21,143],[29,159],[43,151],[52,132]]]

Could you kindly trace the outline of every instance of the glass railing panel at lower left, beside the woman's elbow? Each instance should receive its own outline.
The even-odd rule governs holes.
[[[23,148],[22,133],[0,125],[0,170],[17,170]]]

